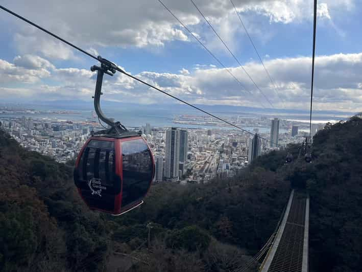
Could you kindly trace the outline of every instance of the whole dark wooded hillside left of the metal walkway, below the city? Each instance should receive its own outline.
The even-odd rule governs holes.
[[[233,270],[269,238],[288,194],[275,172],[258,167],[207,185],[152,186],[141,208],[113,217],[85,207],[73,165],[29,152],[0,133],[4,271]],[[134,256],[140,261],[130,265]]]

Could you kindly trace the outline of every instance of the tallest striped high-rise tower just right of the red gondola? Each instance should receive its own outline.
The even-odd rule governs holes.
[[[180,130],[172,127],[166,130],[164,176],[170,181],[179,179]]]

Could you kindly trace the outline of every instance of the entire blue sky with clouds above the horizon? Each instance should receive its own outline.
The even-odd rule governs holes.
[[[189,0],[163,3],[226,69],[158,0],[114,0],[102,5],[93,0],[33,0],[31,5],[25,0],[5,0],[1,5],[191,103],[308,109],[312,1],[233,0],[276,88],[230,0],[194,2],[243,67]],[[359,4],[356,0],[319,1],[315,109],[362,111]],[[96,64],[93,59],[2,10],[0,24],[0,101],[90,101],[95,84],[89,70]],[[105,79],[105,100],[176,103],[124,75]]]

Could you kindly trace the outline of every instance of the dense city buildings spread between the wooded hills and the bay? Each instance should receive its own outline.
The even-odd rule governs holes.
[[[75,160],[84,142],[91,137],[91,131],[103,129],[91,111],[83,114],[84,119],[72,120],[71,116],[77,117],[71,111],[57,110],[49,114],[49,112],[42,113],[17,107],[0,107],[2,129],[5,129],[23,147],[52,156],[62,163]],[[256,151],[254,150],[256,156],[276,148],[270,148],[269,143],[262,140],[270,137],[269,117],[232,116],[226,119],[258,134],[259,141]],[[309,134],[309,123],[279,120],[280,133],[277,133],[279,135],[276,137],[279,138],[278,148],[284,148],[289,143],[303,142],[304,135]],[[157,127],[154,124],[152,127],[150,123],[133,128],[142,131],[142,137],[154,153],[155,182],[168,180],[182,184],[207,183],[215,177],[234,176],[252,161],[249,156],[253,151],[250,150],[253,145],[249,143],[254,136],[249,133],[230,126],[225,127],[222,123],[206,116],[176,116],[173,123],[187,128]],[[299,134],[294,137],[292,137],[293,126],[299,127]],[[316,126],[316,130],[320,126]]]

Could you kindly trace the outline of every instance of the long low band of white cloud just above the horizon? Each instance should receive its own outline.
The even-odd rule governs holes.
[[[278,93],[285,102],[285,107],[307,109],[310,99],[310,57],[271,59],[265,61],[264,64],[278,86]],[[180,74],[144,71],[136,76],[191,103],[260,107],[259,101],[261,101],[267,106],[266,100],[258,93],[240,67],[229,67],[228,69],[253,95],[240,87],[225,69],[210,68],[206,64],[198,64],[198,67],[202,67],[202,69],[195,70],[192,74],[184,73],[183,70],[180,71]],[[263,67],[255,62],[246,63],[245,67],[274,106],[283,107],[284,104],[275,94]],[[30,94],[41,94],[39,99],[43,100],[90,99],[94,92],[95,73],[88,70],[66,68],[47,71],[51,74],[52,81],[58,82],[56,86],[42,82],[44,77],[49,76],[43,71],[44,68],[41,67],[37,70],[25,69],[0,60],[0,80],[2,82],[11,81],[17,85],[29,84],[27,88],[14,88],[15,97],[21,97],[23,92],[24,99],[28,99]],[[318,56],[316,58],[314,108],[361,111],[361,72],[362,53]],[[165,100],[166,97],[156,90],[119,73],[114,77],[105,77],[104,94],[103,99],[105,100],[132,103],[162,103],[163,101],[172,103],[171,99]],[[11,88],[7,87],[0,97],[12,97]]]

